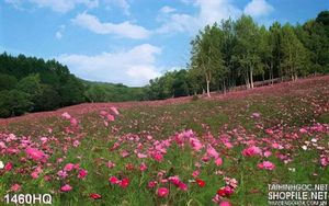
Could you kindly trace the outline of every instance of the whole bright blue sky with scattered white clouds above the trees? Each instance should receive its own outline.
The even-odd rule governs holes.
[[[329,0],[2,0],[0,52],[55,58],[76,76],[144,85],[183,68],[208,23],[247,13],[259,24],[303,23]]]

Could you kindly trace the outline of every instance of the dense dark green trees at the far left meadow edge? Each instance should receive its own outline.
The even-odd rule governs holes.
[[[56,60],[0,55],[0,117],[81,103],[84,90]]]

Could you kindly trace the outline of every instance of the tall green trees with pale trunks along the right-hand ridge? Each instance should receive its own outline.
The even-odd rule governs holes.
[[[251,16],[206,25],[191,42],[184,70],[167,72],[146,87],[150,99],[227,91],[256,81],[273,83],[329,72],[329,11],[303,25],[258,25]]]

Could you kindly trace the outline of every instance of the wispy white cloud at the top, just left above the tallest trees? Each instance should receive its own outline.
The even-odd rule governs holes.
[[[241,11],[229,0],[182,0],[184,3],[193,3],[198,8],[195,15],[171,12],[164,23],[157,30],[158,33],[190,32],[195,34],[206,24],[220,22],[222,20],[236,19]]]

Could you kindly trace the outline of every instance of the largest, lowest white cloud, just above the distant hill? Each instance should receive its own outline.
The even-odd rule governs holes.
[[[144,85],[160,76],[156,55],[161,48],[143,44],[120,53],[100,55],[61,55],[58,61],[67,65],[80,78],[127,85]]]

